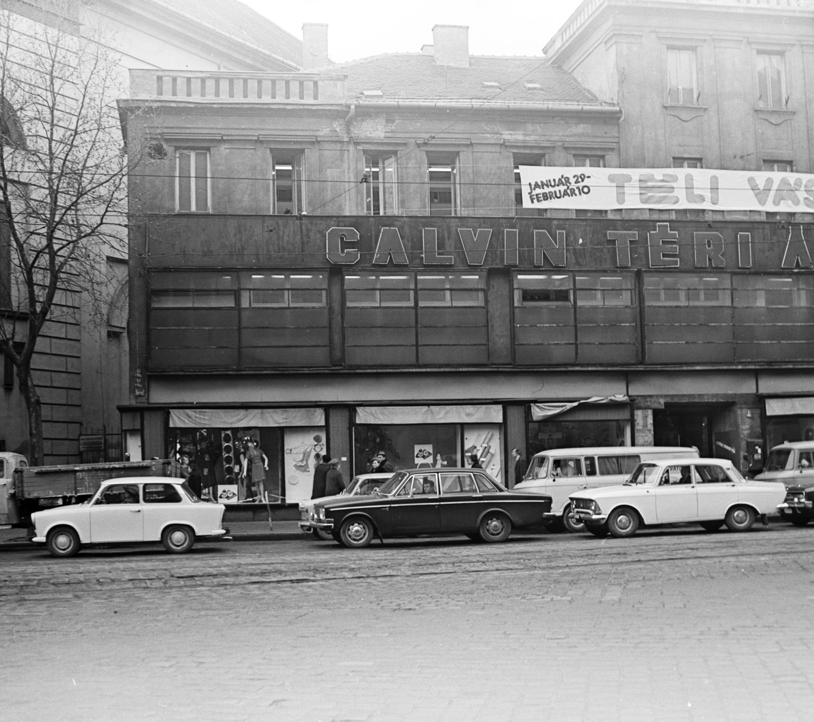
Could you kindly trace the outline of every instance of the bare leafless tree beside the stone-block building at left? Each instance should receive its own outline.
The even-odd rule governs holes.
[[[42,0],[40,21],[0,16],[0,352],[28,409],[33,464],[44,454],[37,340],[81,304],[102,307],[106,254],[125,247],[123,70],[77,7]]]

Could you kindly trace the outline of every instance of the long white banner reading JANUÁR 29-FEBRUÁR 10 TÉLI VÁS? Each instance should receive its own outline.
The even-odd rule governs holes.
[[[814,211],[814,175],[708,168],[520,166],[523,208]]]

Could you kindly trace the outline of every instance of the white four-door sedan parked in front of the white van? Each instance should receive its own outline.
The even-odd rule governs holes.
[[[642,524],[686,522],[745,532],[785,497],[782,484],[747,481],[729,459],[663,459],[640,463],[624,485],[571,494],[571,506],[590,533],[632,537]]]

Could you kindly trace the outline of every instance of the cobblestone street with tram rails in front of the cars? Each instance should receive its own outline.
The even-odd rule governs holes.
[[[0,555],[4,720],[810,720],[812,530]]]

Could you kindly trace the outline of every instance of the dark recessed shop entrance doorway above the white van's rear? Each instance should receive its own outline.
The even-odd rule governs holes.
[[[727,430],[732,409],[731,403],[665,403],[653,410],[654,445],[695,446],[702,457],[733,457],[737,439]]]

